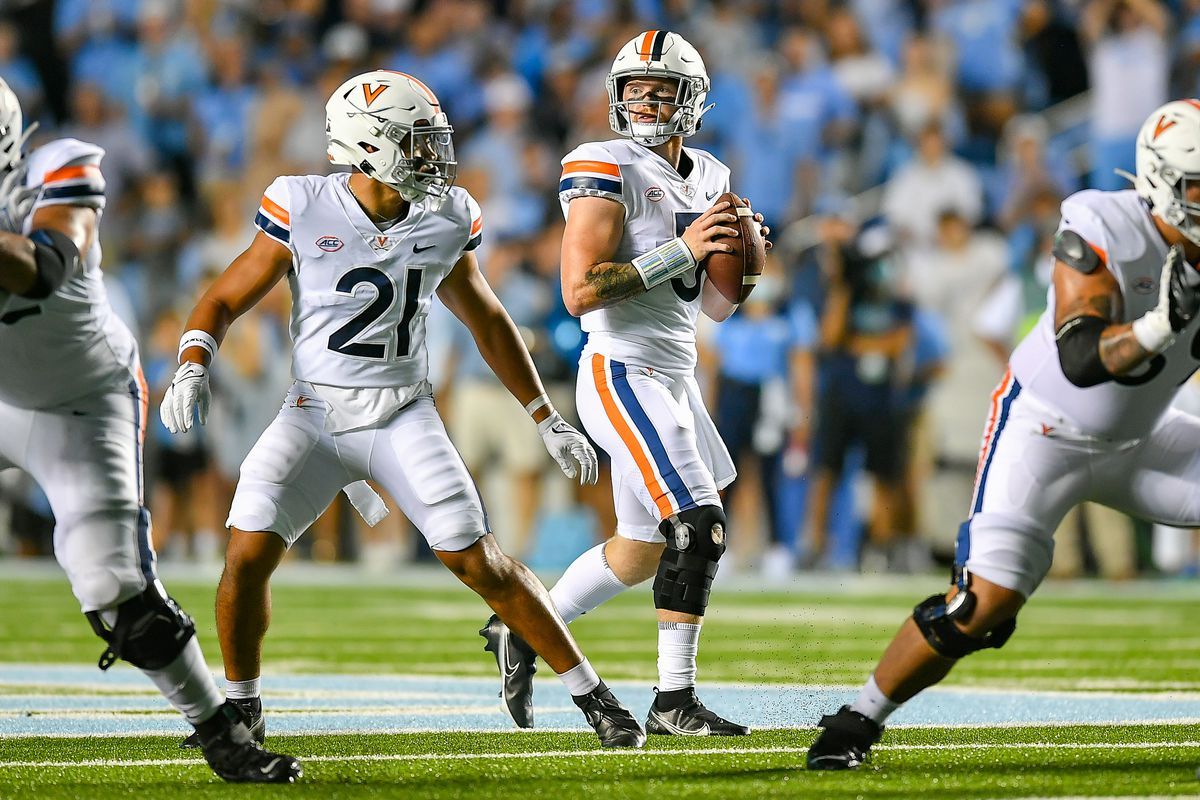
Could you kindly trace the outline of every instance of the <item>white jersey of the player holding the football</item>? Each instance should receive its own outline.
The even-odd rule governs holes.
[[[563,158],[558,198],[563,215],[577,197],[625,206],[625,233],[613,255],[631,261],[679,234],[730,188],[730,170],[703,150],[684,148],[683,178],[661,156],[628,139],[592,142]],[[696,367],[696,317],[704,272],[674,278],[607,308],[583,314],[588,345],[618,361],[670,372]]]

